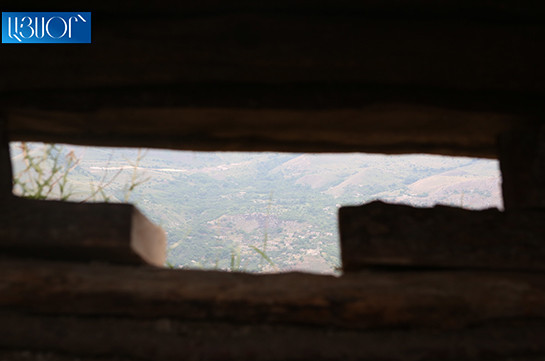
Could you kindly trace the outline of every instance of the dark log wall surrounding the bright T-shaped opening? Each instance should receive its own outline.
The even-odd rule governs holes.
[[[541,2],[78,6],[92,44],[0,46],[0,359],[545,357]],[[499,158],[506,211],[343,209],[339,278],[174,271],[131,206],[14,197],[8,140]]]

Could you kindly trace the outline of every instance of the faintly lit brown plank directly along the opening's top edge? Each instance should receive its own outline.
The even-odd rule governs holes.
[[[12,140],[201,151],[439,153],[494,158],[528,117],[407,104],[359,109],[123,108],[9,113]]]

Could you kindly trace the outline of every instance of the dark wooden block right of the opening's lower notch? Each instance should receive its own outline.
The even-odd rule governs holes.
[[[545,271],[545,210],[372,202],[339,210],[345,271],[372,266]]]

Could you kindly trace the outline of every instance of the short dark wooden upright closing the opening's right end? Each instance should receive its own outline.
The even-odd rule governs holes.
[[[545,127],[504,133],[499,148],[505,209],[545,209]]]

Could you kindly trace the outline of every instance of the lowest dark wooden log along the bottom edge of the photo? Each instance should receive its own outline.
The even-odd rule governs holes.
[[[9,361],[541,361],[545,357],[542,320],[464,330],[373,331],[17,313],[0,313],[0,322],[0,359],[6,355]],[[21,357],[14,349],[34,350],[30,354],[40,357]]]

